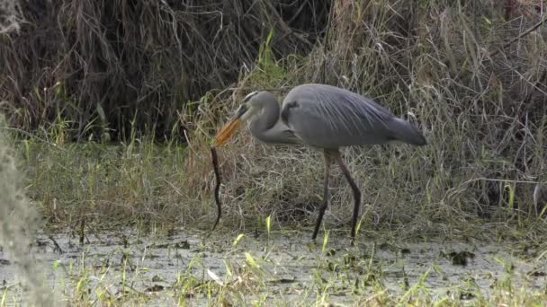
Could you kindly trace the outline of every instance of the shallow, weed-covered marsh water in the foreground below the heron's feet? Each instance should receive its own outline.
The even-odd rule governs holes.
[[[131,297],[147,305],[206,303],[229,294],[240,303],[351,303],[377,292],[489,297],[500,283],[545,290],[542,250],[519,242],[366,241],[345,233],[309,241],[307,232],[213,233],[178,230],[41,234],[32,247],[58,301]],[[325,244],[324,244],[325,243]],[[19,302],[12,260],[0,251],[0,293]],[[212,289],[212,290],[211,290]],[[224,289],[224,290],[220,290]]]

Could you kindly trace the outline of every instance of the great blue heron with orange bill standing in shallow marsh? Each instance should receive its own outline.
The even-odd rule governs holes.
[[[361,192],[340,156],[340,147],[390,141],[426,145],[426,138],[416,127],[372,99],[326,84],[303,84],[293,88],[281,108],[273,93],[251,92],[215,137],[215,145],[224,145],[241,122],[247,120],[251,134],[264,143],[309,145],[323,150],[325,183],[313,240],[327,209],[328,177],[335,161],[354,192],[351,232],[354,242]]]

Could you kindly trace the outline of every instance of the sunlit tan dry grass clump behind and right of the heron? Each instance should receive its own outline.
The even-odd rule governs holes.
[[[220,127],[252,90],[278,89],[282,99],[299,83],[343,86],[396,114],[413,113],[429,142],[345,151],[365,196],[363,227],[457,235],[466,225],[528,224],[544,203],[535,207],[533,196],[546,180],[547,33],[544,26],[527,30],[543,16],[506,22],[488,2],[336,2],[325,45],[303,61],[277,62],[287,72],[282,78],[243,79],[219,103],[205,104],[196,121]],[[259,74],[275,75],[267,66]],[[211,126],[189,138],[201,174],[191,185],[210,183],[197,198],[211,193],[209,157],[202,154]],[[318,153],[258,145],[248,132],[220,152],[229,215],[315,218],[323,168]],[[346,223],[351,193],[336,179],[327,221]]]

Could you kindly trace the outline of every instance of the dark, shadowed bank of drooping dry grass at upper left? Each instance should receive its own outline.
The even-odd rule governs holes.
[[[131,120],[145,134],[182,135],[177,110],[237,80],[271,29],[276,54],[305,53],[327,10],[249,0],[20,6],[21,31],[0,36],[0,100],[10,101],[2,109],[24,129],[48,128],[60,116],[77,140],[127,139]]]

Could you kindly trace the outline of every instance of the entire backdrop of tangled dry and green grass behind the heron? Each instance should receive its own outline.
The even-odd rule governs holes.
[[[299,83],[329,83],[408,116],[429,142],[345,151],[363,190],[362,232],[544,228],[541,2],[200,3],[22,4],[27,28],[0,37],[2,109],[49,144],[27,139],[23,155],[31,195],[51,221],[212,221],[211,136],[238,101],[257,89],[281,98]],[[73,139],[123,143],[50,146]],[[243,132],[220,160],[226,226],[267,215],[312,222],[318,153],[259,145]],[[327,224],[350,217],[339,175]]]

